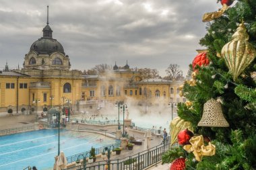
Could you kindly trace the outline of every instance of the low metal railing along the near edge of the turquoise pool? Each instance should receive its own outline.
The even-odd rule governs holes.
[[[102,153],[105,147],[118,148],[120,145],[121,145],[121,142],[116,142],[114,144],[108,144],[106,146],[96,148],[95,149],[95,154],[98,155],[98,154]],[[88,157],[90,157],[90,151],[86,151],[84,153],[78,153],[76,155],[72,155],[70,157],[67,157],[67,163],[73,163],[73,162],[77,161],[77,159],[79,159],[79,160],[80,159],[86,159]]]

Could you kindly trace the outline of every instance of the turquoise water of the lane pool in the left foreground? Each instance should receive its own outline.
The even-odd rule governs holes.
[[[98,140],[102,138],[103,140]],[[90,148],[117,142],[99,134],[61,130],[60,150],[66,157],[90,151]],[[36,166],[53,169],[58,154],[58,130],[38,130],[0,137],[0,170],[22,170]]]

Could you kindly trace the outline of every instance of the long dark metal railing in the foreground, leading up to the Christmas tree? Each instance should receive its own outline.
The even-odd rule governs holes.
[[[79,165],[70,167],[68,169],[77,170],[140,170],[146,169],[152,165],[157,165],[162,160],[162,155],[169,151],[171,148],[177,147],[179,144],[170,145],[170,136],[166,138],[164,144],[154,146],[149,150],[125,157],[123,159],[99,161],[96,163],[87,163],[86,165]],[[65,170],[68,170],[65,169]]]

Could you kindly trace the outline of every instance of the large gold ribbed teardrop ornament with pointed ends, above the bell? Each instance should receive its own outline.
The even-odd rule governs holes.
[[[221,52],[234,81],[253,62],[256,54],[255,48],[248,42],[246,31],[245,25],[240,24],[232,35],[232,41],[225,44]]]

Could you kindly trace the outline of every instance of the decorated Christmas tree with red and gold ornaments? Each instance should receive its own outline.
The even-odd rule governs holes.
[[[182,90],[188,101],[178,105],[195,136],[187,139],[189,148],[183,144],[163,156],[171,169],[256,169],[256,0],[218,3],[226,9],[207,13],[207,34],[199,42],[207,54],[190,66],[193,79]],[[193,148],[200,135],[202,145]],[[210,148],[212,156],[205,156]]]

